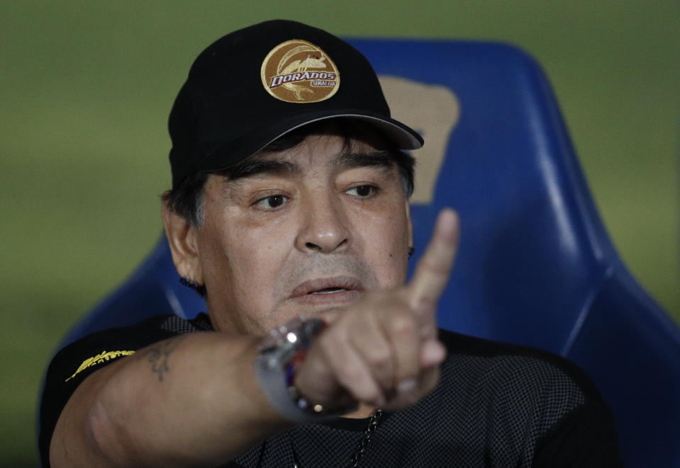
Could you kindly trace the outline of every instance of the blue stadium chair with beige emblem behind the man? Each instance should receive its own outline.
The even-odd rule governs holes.
[[[427,142],[416,154],[416,257],[442,206],[462,219],[440,325],[573,360],[611,405],[629,467],[680,466],[680,331],[608,239],[540,67],[497,43],[351,42],[394,94],[394,115]],[[163,238],[65,342],[204,310],[177,279]]]

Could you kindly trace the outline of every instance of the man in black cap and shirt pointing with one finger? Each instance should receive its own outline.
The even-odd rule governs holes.
[[[620,466],[611,413],[573,365],[437,333],[457,217],[440,214],[407,284],[401,150],[422,139],[352,47],[290,21],[227,35],[169,130],[166,234],[208,315],[57,354],[44,464]]]

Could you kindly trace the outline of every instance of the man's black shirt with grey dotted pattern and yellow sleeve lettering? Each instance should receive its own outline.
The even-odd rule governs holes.
[[[57,353],[40,411],[40,452],[87,375],[180,333],[211,330],[205,314],[157,316],[94,333]],[[622,467],[611,411],[578,367],[545,351],[440,331],[448,355],[437,387],[417,404],[384,413],[362,467]],[[352,460],[368,419],[295,426],[228,467],[338,467]]]

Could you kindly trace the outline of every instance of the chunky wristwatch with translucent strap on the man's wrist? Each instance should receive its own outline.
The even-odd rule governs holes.
[[[347,413],[351,408],[328,411],[312,404],[293,384],[295,365],[304,360],[314,338],[325,329],[322,319],[299,316],[277,326],[264,337],[255,359],[255,372],[269,403],[294,423],[318,423]]]

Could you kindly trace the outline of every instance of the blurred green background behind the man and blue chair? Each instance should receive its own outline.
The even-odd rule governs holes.
[[[620,255],[680,321],[677,1],[4,1],[0,465],[35,466],[50,353],[160,234],[167,113],[194,57],[270,18],[528,50]]]

